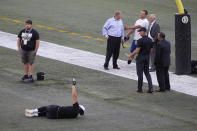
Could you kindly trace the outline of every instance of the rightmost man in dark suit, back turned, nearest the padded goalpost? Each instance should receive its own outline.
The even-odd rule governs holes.
[[[165,40],[165,34],[162,32],[158,34],[158,40],[159,43],[156,47],[155,56],[156,74],[160,87],[158,92],[165,92],[166,90],[170,91],[168,70],[170,66],[171,44]]]

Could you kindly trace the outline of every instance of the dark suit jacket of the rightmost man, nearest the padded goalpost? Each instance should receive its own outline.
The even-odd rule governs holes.
[[[171,44],[166,40],[161,40],[156,46],[155,65],[159,67],[170,66]]]

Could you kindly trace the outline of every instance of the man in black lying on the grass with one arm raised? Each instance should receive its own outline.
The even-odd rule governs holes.
[[[73,106],[49,105],[38,109],[25,109],[27,117],[47,117],[48,119],[77,118],[78,114],[84,115],[85,107],[78,104],[76,80],[72,80]]]

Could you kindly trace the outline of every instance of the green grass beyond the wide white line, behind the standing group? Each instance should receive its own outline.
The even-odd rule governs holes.
[[[183,0],[192,16],[192,58],[197,59],[197,2]],[[35,24],[41,24],[58,29],[66,29],[75,33],[102,37],[101,29],[104,22],[113,16],[116,9],[123,12],[125,25],[134,24],[138,19],[141,9],[147,9],[149,13],[158,15],[158,22],[167,39],[172,42],[172,63],[174,69],[174,14],[177,8],[174,0],[1,0],[0,17],[8,17],[25,21],[27,18]],[[21,24],[0,21],[0,30],[17,34],[23,28]],[[69,47],[88,50],[99,54],[105,54],[105,42],[81,39],[76,36],[68,36],[63,33],[37,29],[41,33],[41,39],[66,45]],[[127,49],[121,51],[121,59]]]

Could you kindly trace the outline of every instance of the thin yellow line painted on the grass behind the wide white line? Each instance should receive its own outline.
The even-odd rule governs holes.
[[[18,23],[18,24],[25,24],[25,22],[23,22],[21,20],[11,19],[11,18],[7,18],[7,17],[0,17],[0,20],[9,21],[9,22]],[[70,32],[70,31],[67,31],[67,30],[57,29],[57,28],[48,27],[48,26],[44,26],[44,25],[35,24],[34,26],[37,27],[37,28],[43,28],[43,29],[50,30],[50,31],[66,33],[66,34],[72,35],[72,36],[80,36],[80,37],[86,38],[86,39],[92,39],[92,40],[102,41],[102,42],[106,41],[103,38],[96,38],[96,37],[93,37],[93,36],[83,35],[83,34],[80,34],[80,33],[74,33],[74,32]],[[130,45],[125,44],[125,47],[129,48]]]

